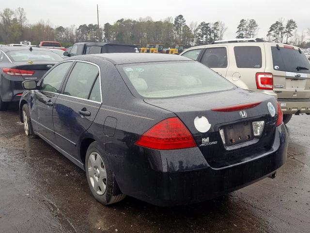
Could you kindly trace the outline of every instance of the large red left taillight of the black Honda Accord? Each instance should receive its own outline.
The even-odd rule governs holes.
[[[171,117],[157,123],[143,133],[136,145],[155,150],[197,147],[193,135],[178,117]]]

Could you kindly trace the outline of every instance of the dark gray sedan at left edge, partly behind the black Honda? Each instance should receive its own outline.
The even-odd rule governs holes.
[[[23,81],[39,81],[59,61],[62,57],[47,49],[0,47],[0,110],[20,100]]]

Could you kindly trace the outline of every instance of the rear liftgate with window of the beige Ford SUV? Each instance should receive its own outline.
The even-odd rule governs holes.
[[[272,58],[266,72],[273,74],[274,91],[278,99],[309,99],[310,63],[306,55],[288,45],[279,48],[266,45],[266,51]]]

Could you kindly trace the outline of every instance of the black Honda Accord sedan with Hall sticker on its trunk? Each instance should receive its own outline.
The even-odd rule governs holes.
[[[200,202],[274,177],[286,160],[278,102],[186,57],[75,56],[23,86],[25,133],[84,169],[103,204]]]

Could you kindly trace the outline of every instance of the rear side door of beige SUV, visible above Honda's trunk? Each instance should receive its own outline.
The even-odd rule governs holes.
[[[226,77],[228,70],[228,50],[226,46],[206,48],[199,59],[206,67],[216,71],[218,74]]]

